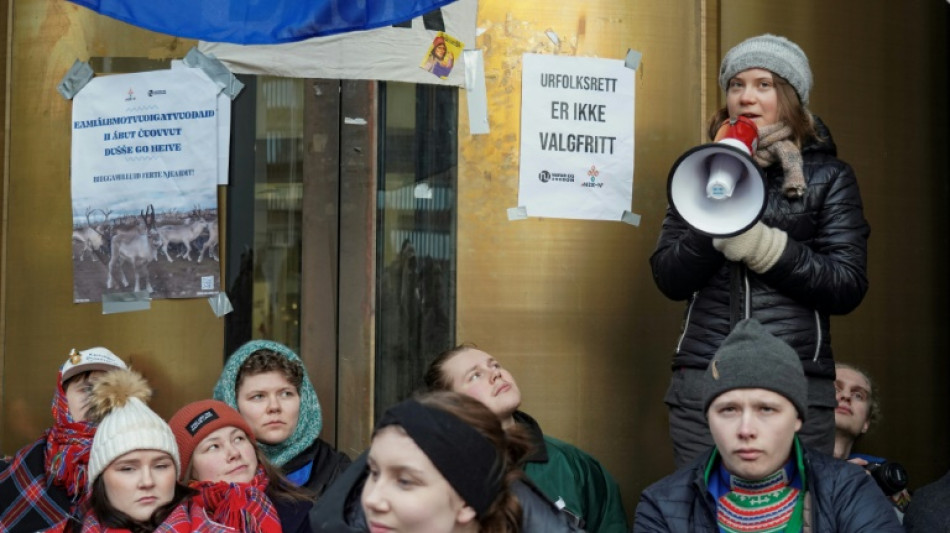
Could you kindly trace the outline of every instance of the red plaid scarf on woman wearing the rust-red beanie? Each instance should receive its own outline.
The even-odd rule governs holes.
[[[281,533],[277,509],[267,497],[267,474],[257,466],[250,483],[193,481],[189,485],[201,493],[194,497],[219,524],[242,533]]]

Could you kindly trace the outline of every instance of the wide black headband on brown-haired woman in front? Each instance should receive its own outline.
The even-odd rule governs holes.
[[[376,424],[401,426],[422,449],[442,477],[479,517],[501,490],[503,472],[495,446],[455,416],[416,400],[390,407]]]

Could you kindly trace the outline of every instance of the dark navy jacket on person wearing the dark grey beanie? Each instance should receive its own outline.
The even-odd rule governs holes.
[[[710,453],[677,470],[640,495],[633,533],[718,533],[716,502],[706,487]],[[902,533],[893,507],[858,465],[803,450],[807,494],[803,531]]]

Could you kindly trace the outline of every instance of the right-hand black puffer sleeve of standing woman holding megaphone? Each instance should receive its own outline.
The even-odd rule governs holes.
[[[770,286],[828,314],[849,313],[868,290],[867,240],[870,227],[858,182],[849,165],[835,160],[828,180],[809,193],[821,194],[813,238],[796,240],[794,230],[778,262],[761,275]],[[806,193],[807,194],[807,193]]]

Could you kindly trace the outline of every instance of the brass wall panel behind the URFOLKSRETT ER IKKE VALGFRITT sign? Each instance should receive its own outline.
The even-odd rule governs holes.
[[[639,489],[672,465],[662,404],[681,305],[653,286],[647,258],[666,177],[697,144],[701,2],[479,4],[491,134],[472,136],[460,105],[458,335],[518,379],[542,428],[600,459],[633,512]],[[553,30],[556,46],[546,35]],[[632,211],[642,225],[530,218],[517,205],[521,56],[623,59],[636,74]]]

